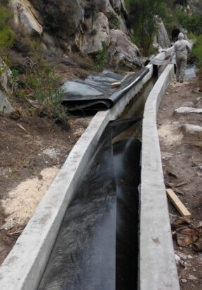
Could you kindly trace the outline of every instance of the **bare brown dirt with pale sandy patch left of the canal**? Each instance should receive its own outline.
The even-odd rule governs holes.
[[[0,115],[0,123],[1,264],[90,118],[69,117],[68,132],[48,118]]]

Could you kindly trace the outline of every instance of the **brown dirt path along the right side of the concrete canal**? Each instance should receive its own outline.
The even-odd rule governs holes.
[[[202,108],[200,85],[201,76],[183,84],[173,79],[158,116],[166,186],[173,188],[191,212],[191,219],[178,219],[180,214],[169,202],[175,259],[183,290],[202,289],[202,249],[196,252],[193,246],[194,240],[202,236],[202,135],[185,132],[184,127],[184,124],[202,126],[202,114],[176,114],[174,111],[180,106]]]

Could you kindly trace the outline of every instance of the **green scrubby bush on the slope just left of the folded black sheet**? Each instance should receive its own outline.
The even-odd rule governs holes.
[[[23,99],[34,99],[39,104],[32,109],[32,114],[46,115],[62,123],[67,129],[67,111],[61,104],[61,78],[44,57],[39,43],[34,42],[32,57],[26,58],[23,67],[25,78],[23,85],[19,87],[18,96]],[[17,81],[18,76],[15,74],[13,79],[15,86]]]

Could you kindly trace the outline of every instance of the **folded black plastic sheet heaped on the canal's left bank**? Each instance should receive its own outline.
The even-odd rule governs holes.
[[[78,78],[67,81],[62,86],[62,104],[67,106],[68,111],[109,109],[148,72],[149,69],[146,67],[128,75],[105,70],[100,75],[88,76],[85,81]],[[121,85],[112,88],[112,83],[116,82],[121,82]]]

